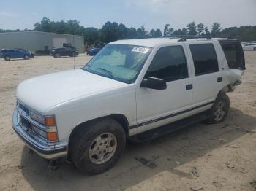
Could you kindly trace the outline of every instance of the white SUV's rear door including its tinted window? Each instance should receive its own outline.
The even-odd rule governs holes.
[[[193,69],[192,107],[196,112],[208,109],[222,89],[222,68],[219,66],[214,42],[187,44]]]

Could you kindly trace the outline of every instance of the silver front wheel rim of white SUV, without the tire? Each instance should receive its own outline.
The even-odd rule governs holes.
[[[115,154],[116,147],[116,136],[113,133],[102,133],[92,141],[89,159],[97,165],[106,163]]]

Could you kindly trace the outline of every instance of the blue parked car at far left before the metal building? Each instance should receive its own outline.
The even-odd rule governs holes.
[[[1,57],[4,58],[5,61],[10,61],[12,58],[23,58],[28,60],[29,58],[34,57],[34,53],[20,48],[2,49]]]

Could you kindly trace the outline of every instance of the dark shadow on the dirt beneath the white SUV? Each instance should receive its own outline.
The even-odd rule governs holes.
[[[248,130],[254,130],[255,123],[256,117],[231,108],[225,122],[215,125],[198,123],[144,144],[128,143],[117,165],[96,176],[80,174],[69,163],[53,170],[46,160],[29,154],[27,147],[23,149],[20,165],[24,178],[34,190],[124,190],[162,171],[184,176],[174,168],[218,147],[228,147]],[[153,160],[157,167],[148,168],[135,157]]]

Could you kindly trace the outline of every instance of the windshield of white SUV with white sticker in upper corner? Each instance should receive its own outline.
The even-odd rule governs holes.
[[[82,69],[120,82],[132,83],[150,52],[151,47],[108,44]]]

